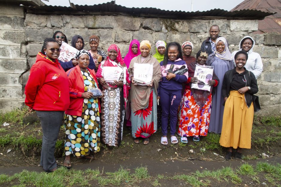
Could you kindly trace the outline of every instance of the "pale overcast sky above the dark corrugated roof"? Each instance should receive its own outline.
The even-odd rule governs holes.
[[[47,5],[53,6],[69,6],[69,0],[41,0]],[[191,1],[192,0],[116,0],[116,4],[125,6],[128,8],[131,7],[153,7],[159,8],[162,10],[181,10],[190,12],[191,11]],[[243,0],[193,0],[193,11],[206,11],[215,8],[223,10],[231,10],[236,5],[240,4]],[[110,1],[106,0],[70,0],[70,2],[79,5],[93,5],[101,4]]]

